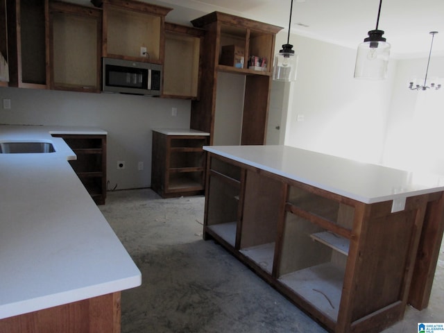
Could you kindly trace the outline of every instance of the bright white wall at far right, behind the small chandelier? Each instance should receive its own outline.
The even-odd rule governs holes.
[[[444,87],[411,91],[411,77],[424,77],[427,58],[398,60],[388,113],[384,164],[444,174]],[[430,60],[429,77],[444,83],[444,57]]]

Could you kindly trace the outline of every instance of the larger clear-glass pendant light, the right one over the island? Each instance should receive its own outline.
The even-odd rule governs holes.
[[[384,31],[378,30],[379,15],[381,14],[382,0],[379,1],[375,30],[368,31],[368,37],[359,44],[355,78],[368,80],[381,80],[387,78],[388,57],[390,56],[390,44],[382,37]]]

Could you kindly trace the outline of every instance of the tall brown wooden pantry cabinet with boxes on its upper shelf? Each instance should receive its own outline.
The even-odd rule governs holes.
[[[210,133],[210,144],[264,144],[275,35],[282,28],[223,12],[191,23],[205,29],[207,47],[190,127]]]

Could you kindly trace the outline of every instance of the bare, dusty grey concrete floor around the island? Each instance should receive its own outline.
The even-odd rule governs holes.
[[[142,271],[122,292],[122,333],[326,332],[214,241],[203,241],[205,198],[162,199],[151,189],[108,192],[99,206]],[[375,291],[376,293],[377,291]],[[444,250],[429,307],[407,307],[384,333],[444,322]]]

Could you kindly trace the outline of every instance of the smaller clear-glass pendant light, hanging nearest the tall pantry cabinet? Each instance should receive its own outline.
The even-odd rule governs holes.
[[[282,45],[282,50],[275,56],[273,68],[273,80],[290,82],[296,80],[296,69],[298,67],[298,55],[293,51],[290,44],[291,12],[293,11],[293,0],[290,6],[289,34],[287,44]]]

